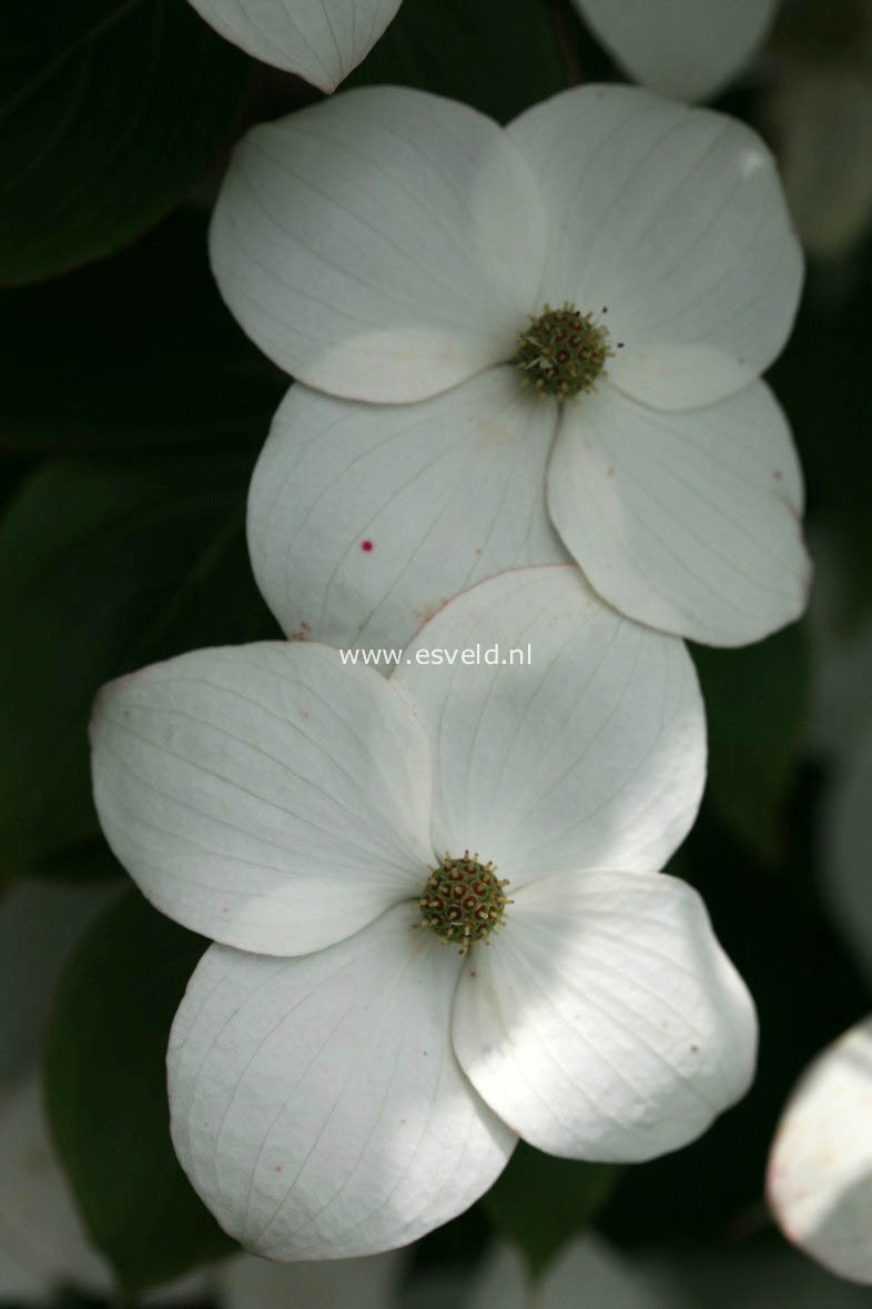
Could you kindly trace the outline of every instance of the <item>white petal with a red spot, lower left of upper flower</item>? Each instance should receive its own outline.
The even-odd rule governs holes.
[[[409,406],[293,386],[248,496],[255,577],[285,631],[401,647],[482,577],[567,562],[545,507],[556,425],[506,368]]]

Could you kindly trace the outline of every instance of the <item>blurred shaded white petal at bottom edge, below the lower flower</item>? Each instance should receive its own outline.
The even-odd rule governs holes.
[[[272,1263],[241,1254],[218,1266],[221,1309],[388,1309],[404,1268],[396,1251],[363,1259]]]

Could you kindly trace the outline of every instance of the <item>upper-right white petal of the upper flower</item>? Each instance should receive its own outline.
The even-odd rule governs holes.
[[[596,315],[608,306],[617,386],[689,408],[773,361],[803,260],[773,157],[750,128],[631,86],[582,86],[507,131],[550,215],[540,300]]]

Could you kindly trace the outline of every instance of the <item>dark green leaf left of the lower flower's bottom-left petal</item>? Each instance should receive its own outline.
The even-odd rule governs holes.
[[[46,1055],[51,1130],[92,1240],[127,1292],[234,1249],[182,1173],[166,1101],[170,1025],[205,945],[131,891],[60,984]]]

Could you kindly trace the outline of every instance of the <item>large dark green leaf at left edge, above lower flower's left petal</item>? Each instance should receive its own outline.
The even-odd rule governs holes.
[[[56,459],[0,525],[0,867],[86,856],[98,686],[276,635],[243,539],[250,459]]]

